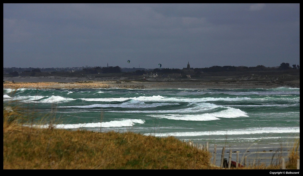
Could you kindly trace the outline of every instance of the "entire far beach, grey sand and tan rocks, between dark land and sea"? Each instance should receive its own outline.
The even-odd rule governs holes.
[[[3,77],[3,88],[75,89],[75,88],[185,88],[185,89],[242,89],[242,88],[300,88],[300,79],[293,81],[228,81],[214,80],[127,80],[127,78],[76,78],[76,77]]]

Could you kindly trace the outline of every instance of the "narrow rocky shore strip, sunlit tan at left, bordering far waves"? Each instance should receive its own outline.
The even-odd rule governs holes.
[[[123,82],[116,81],[83,81],[83,82],[10,82],[4,81],[3,88],[36,88],[36,89],[82,89],[82,88],[129,88],[129,89],[152,89],[152,88],[186,88],[186,89],[242,89],[242,88],[277,88],[290,87],[300,88],[299,83],[274,84],[261,82]]]

